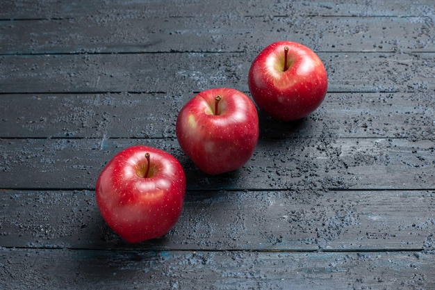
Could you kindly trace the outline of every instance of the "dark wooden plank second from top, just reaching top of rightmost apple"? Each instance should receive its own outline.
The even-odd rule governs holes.
[[[266,29],[265,27],[268,27]],[[260,51],[286,38],[315,51],[435,51],[429,17],[110,17],[0,22],[0,54]]]

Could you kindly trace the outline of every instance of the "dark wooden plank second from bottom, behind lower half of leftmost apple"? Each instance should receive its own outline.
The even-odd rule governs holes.
[[[154,250],[429,250],[435,191],[188,192],[169,234],[129,244],[93,191],[3,191],[0,246]]]

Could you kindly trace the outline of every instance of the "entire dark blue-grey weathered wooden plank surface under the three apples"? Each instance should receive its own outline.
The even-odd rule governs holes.
[[[432,0],[0,1],[0,288],[434,289],[434,22]],[[259,111],[252,159],[199,172],[179,110],[249,95],[281,39],[325,63],[325,102]],[[130,244],[94,191],[136,144],[174,154],[188,191],[170,233]]]

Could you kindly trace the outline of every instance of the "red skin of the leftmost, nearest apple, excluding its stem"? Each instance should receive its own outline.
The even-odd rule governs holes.
[[[147,177],[147,157],[149,173]],[[106,223],[130,243],[158,238],[177,223],[183,208],[186,175],[171,154],[153,147],[128,147],[101,171],[95,189]]]

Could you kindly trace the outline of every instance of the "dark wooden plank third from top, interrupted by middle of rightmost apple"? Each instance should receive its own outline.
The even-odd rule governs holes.
[[[0,56],[0,93],[248,91],[250,54]],[[329,92],[433,92],[434,53],[320,53]],[[343,70],[346,67],[346,70]]]

